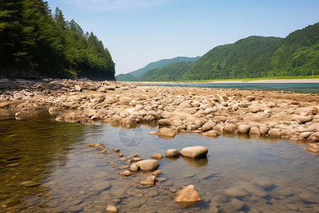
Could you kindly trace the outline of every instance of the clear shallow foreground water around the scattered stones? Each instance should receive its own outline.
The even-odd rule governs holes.
[[[121,212],[213,212],[230,201],[224,192],[234,185],[250,190],[237,197],[245,204],[238,211],[319,211],[319,160],[303,149],[306,145],[247,136],[148,135],[156,129],[60,123],[46,113],[22,121],[6,116],[0,121],[0,212],[105,212],[108,204],[116,204]],[[161,181],[144,188],[136,182],[149,174],[122,177],[118,154],[99,153],[84,147],[86,143],[105,143],[106,149],[120,148],[124,156],[138,154],[143,159],[194,145],[206,146],[209,152],[206,160],[159,160]],[[262,192],[252,184],[260,178],[272,183]],[[170,190],[190,184],[201,203],[184,207],[170,199]]]

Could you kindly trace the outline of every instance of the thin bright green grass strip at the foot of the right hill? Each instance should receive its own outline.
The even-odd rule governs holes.
[[[319,79],[319,75],[313,76],[274,76],[274,77],[255,77],[255,78],[238,78],[223,80],[184,80],[184,81],[158,81],[158,82],[213,82],[213,81],[256,81],[256,80],[291,80],[291,79]]]

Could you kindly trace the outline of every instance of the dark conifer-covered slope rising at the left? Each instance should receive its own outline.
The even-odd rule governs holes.
[[[41,0],[0,1],[0,69],[115,79],[111,54],[62,11]]]

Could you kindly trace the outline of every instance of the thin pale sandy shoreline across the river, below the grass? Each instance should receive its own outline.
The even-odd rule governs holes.
[[[180,82],[139,82],[141,84],[167,84]],[[214,84],[240,84],[240,83],[319,83],[319,79],[281,79],[281,80],[218,80],[211,82],[185,82],[185,83],[214,83]]]

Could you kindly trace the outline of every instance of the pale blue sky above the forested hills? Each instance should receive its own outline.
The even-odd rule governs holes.
[[[250,35],[284,38],[319,21],[318,0],[47,0],[110,51],[116,75],[202,56]]]

